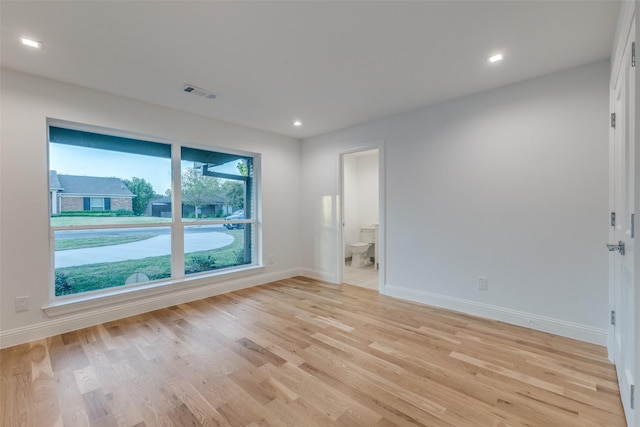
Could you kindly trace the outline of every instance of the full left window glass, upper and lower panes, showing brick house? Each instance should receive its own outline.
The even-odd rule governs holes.
[[[171,277],[171,205],[153,215],[171,146],[54,126],[49,137],[55,295]]]

